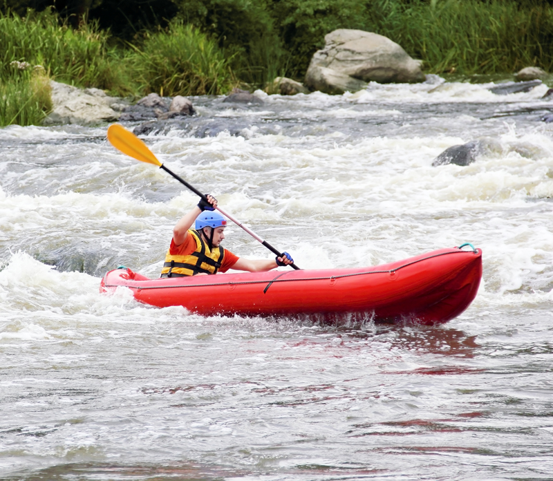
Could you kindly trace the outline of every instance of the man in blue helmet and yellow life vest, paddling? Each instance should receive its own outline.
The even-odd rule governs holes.
[[[288,252],[274,259],[245,259],[221,247],[227,220],[215,211],[217,200],[206,194],[198,205],[176,223],[165,255],[162,277],[217,274],[229,269],[264,272],[294,262]],[[195,223],[195,229],[192,225]]]

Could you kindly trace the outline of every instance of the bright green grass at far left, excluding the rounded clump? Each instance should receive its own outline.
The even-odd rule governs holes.
[[[94,24],[73,30],[50,10],[0,15],[0,126],[40,124],[52,109],[50,78],[131,93],[108,38]]]

